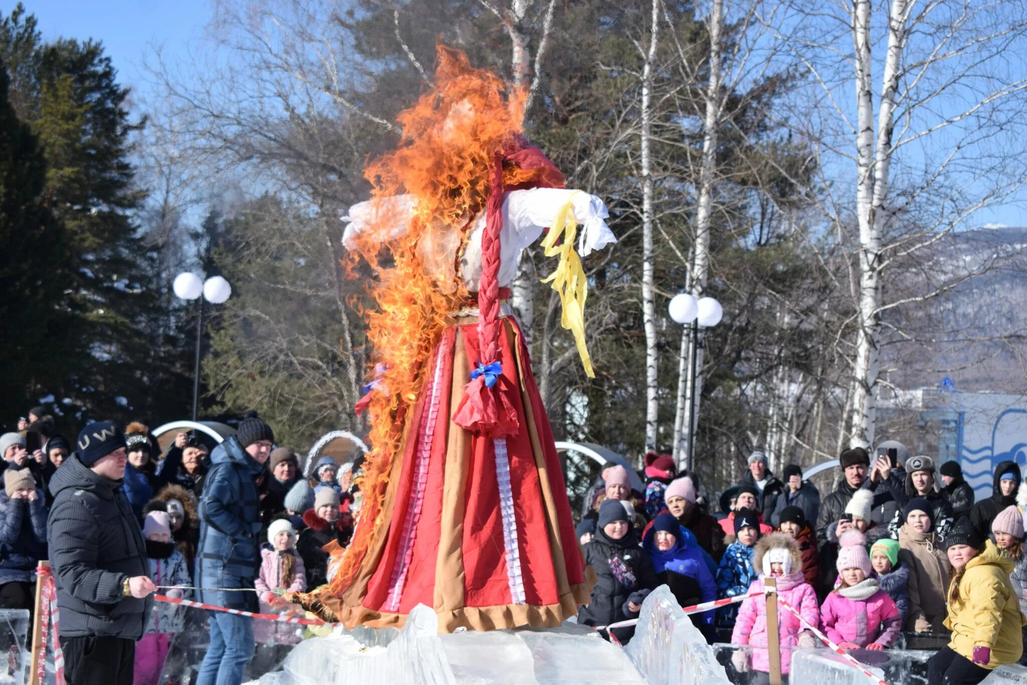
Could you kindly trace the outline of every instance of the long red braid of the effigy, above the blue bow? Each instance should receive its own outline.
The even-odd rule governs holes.
[[[492,157],[485,231],[482,234],[482,280],[478,289],[479,353],[482,364],[499,358],[499,233],[503,227],[503,152]]]

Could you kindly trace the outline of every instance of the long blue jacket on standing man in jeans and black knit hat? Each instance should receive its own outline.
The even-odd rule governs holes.
[[[233,435],[211,453],[211,470],[199,500],[196,585],[253,587],[260,572],[260,495],[255,483],[264,466]],[[207,591],[199,601],[258,611],[256,593]]]

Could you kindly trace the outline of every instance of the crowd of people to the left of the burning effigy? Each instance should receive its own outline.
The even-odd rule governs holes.
[[[302,614],[284,595],[326,582],[326,548],[348,543],[359,458],[325,457],[306,478],[256,416],[213,451],[184,431],[163,454],[142,423],[92,422],[74,443],[53,425],[36,408],[0,435],[0,607],[31,613],[38,563],[49,560],[69,683],[189,683],[176,637],[194,630],[207,642],[195,682],[238,684],[303,639],[295,623],[186,610],[153,595]],[[0,649],[13,672],[17,645]]]

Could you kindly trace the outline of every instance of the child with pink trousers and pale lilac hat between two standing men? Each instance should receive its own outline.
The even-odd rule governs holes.
[[[163,591],[167,597],[189,599],[191,585],[189,567],[185,556],[175,548],[172,537],[172,518],[166,511],[150,511],[143,520],[143,536],[146,538],[150,579],[156,585],[181,585]],[[175,636],[185,626],[183,607],[177,604],[157,602],[153,614],[147,621],[146,634],[136,645],[134,685],[157,685],[160,674],[167,661]]]

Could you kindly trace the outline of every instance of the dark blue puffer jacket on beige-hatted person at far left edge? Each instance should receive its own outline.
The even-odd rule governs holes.
[[[0,585],[31,582],[36,563],[46,559],[46,498],[11,499],[0,490]]]

